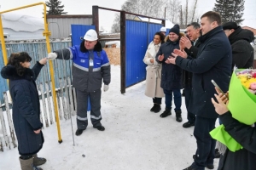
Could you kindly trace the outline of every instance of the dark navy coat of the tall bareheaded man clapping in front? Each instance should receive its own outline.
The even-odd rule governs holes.
[[[211,101],[216,94],[211,80],[214,80],[224,92],[228,91],[232,63],[230,42],[222,26],[207,32],[198,41],[201,41],[201,46],[196,59],[183,59],[177,56],[176,65],[193,72],[189,111],[196,116],[217,118],[218,114]]]

